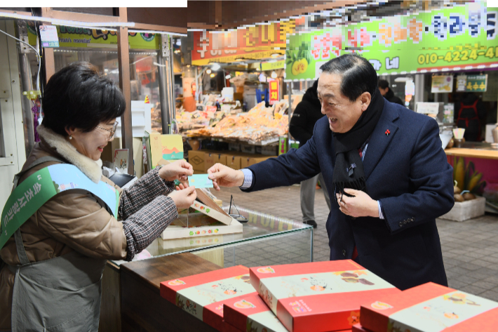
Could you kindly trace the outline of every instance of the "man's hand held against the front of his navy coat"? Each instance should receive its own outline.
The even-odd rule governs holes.
[[[354,190],[345,188],[344,192],[353,195],[354,197],[347,197],[346,195],[336,194],[339,210],[345,215],[351,217],[374,217],[379,218],[379,205],[377,201],[368,196],[366,192],[361,190]]]

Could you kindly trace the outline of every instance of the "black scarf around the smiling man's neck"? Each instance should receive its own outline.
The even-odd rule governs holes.
[[[347,133],[332,133],[335,147],[335,167],[332,175],[335,194],[351,196],[344,188],[366,192],[365,171],[358,149],[370,138],[384,109],[384,98],[376,89],[370,105]]]

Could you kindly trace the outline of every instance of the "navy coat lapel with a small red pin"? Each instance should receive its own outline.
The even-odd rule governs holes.
[[[372,132],[372,136],[370,136],[367,151],[365,152],[365,158],[363,159],[365,179],[368,179],[372,171],[375,169],[375,166],[377,166],[380,159],[384,155],[389,143],[396,135],[398,126],[396,126],[393,121],[398,119],[398,116],[399,115],[396,109],[391,107],[391,105],[388,105],[387,102],[384,102],[382,116]],[[388,130],[390,133],[389,135],[386,135],[386,131]]]

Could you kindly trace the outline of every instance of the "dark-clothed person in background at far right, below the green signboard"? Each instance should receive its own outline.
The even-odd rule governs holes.
[[[462,101],[455,102],[455,124],[458,128],[464,128],[466,141],[480,142],[483,131],[482,124],[485,121],[486,109],[483,101],[474,93],[464,93]]]

